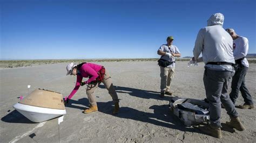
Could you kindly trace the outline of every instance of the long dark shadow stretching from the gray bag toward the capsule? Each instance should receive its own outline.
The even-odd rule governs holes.
[[[69,105],[67,107],[69,108],[76,108],[84,110],[85,107],[79,106],[79,105],[73,105],[73,104],[80,104],[83,106],[87,106],[89,104],[87,98],[79,99],[78,101],[71,100],[69,102]],[[124,119],[132,119],[132,120],[138,120],[145,123],[154,124],[157,126],[163,126],[172,128],[174,130],[180,130],[184,132],[197,132],[199,133],[199,130],[196,128],[190,128],[186,127],[181,123],[181,121],[178,119],[178,117],[174,116],[173,113],[169,110],[168,105],[153,105],[149,109],[153,110],[153,113],[149,112],[143,112],[139,111],[137,109],[133,109],[130,107],[120,107],[119,112],[117,115],[113,115],[113,102],[97,102],[98,105],[98,111],[118,117],[118,118],[124,118]]]

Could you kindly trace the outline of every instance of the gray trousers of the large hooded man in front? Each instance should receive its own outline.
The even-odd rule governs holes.
[[[210,106],[211,126],[220,127],[221,105],[225,106],[227,114],[231,117],[238,117],[230,96],[227,94],[228,85],[234,75],[231,71],[219,71],[205,69],[204,85],[206,98]]]

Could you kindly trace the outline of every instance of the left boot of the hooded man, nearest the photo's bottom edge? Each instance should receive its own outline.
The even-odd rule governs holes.
[[[220,127],[212,127],[211,125],[198,126],[199,130],[211,135],[214,138],[222,138]]]

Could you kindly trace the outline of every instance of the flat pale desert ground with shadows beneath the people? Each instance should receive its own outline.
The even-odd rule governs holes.
[[[160,98],[160,69],[156,61],[97,62],[111,74],[120,98],[120,111],[112,115],[113,103],[104,85],[95,91],[99,111],[84,114],[89,101],[85,87],[80,87],[66,106],[64,121],[58,118],[32,123],[12,105],[19,96],[35,89],[48,89],[68,96],[76,77],[66,76],[67,63],[0,69],[0,142],[256,142],[256,110],[237,109],[245,131],[224,123],[223,138],[216,139],[200,132],[197,126],[185,127],[169,110],[173,96],[204,99],[204,63],[187,67],[187,61],[176,62],[176,76],[171,85],[173,96]],[[256,103],[256,63],[251,63],[246,85]],[[27,85],[31,85],[28,90]],[[230,88],[231,89],[231,88]],[[243,104],[239,95],[237,105]]]

